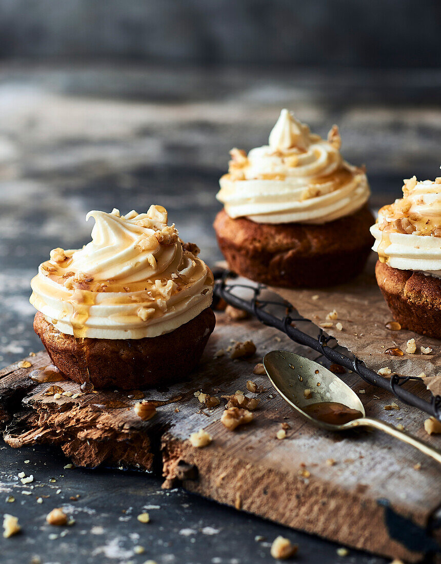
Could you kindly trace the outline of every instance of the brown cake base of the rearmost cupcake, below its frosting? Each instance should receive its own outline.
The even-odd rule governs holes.
[[[371,251],[373,222],[367,205],[320,225],[255,223],[222,210],[214,229],[228,267],[237,274],[271,286],[320,288],[360,274]]]

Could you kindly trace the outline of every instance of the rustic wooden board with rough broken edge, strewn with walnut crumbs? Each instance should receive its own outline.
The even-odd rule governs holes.
[[[214,358],[232,340],[248,339],[257,346],[253,358],[233,361],[228,354]],[[182,484],[237,509],[391,558],[416,562],[435,550],[441,539],[440,531],[433,530],[441,506],[439,466],[382,433],[333,434],[305,422],[277,395],[266,376],[253,374],[266,352],[284,348],[318,358],[257,321],[232,322],[218,313],[217,327],[192,380],[166,390],[144,391],[145,399],[169,402],[145,422],[133,411],[139,399],[127,397],[130,392],[99,391],[76,399],[44,395],[51,384],[36,385],[28,379],[30,371],[49,363],[46,352],[39,352],[27,358],[32,367],[14,364],[0,372],[4,438],[17,448],[56,444],[77,465],[162,472],[165,486]],[[417,437],[441,447],[441,436],[426,435],[424,414],[404,404],[386,411],[392,396],[355,374],[341,377],[356,392],[365,390],[360,399],[368,415],[403,424]],[[246,391],[246,380],[259,385],[262,391],[247,395],[261,403],[254,421],[235,431],[220,422],[224,400],[208,409],[194,395],[197,390],[218,397]],[[55,385],[80,391],[70,381]],[[421,384],[413,386],[419,390]],[[128,407],[105,407],[115,400]],[[278,440],[283,422],[290,429],[284,440]],[[213,442],[198,449],[187,439],[201,428]],[[335,464],[329,465],[328,459]]]

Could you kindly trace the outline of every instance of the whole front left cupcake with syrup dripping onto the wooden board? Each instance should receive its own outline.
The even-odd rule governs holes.
[[[214,329],[213,275],[167,211],[90,211],[92,241],[54,249],[31,282],[34,330],[67,377],[123,389],[180,380]]]

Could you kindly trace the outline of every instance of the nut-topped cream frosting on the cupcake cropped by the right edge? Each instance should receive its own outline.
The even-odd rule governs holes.
[[[371,233],[381,262],[441,277],[441,177],[404,180],[403,198],[380,209]]]

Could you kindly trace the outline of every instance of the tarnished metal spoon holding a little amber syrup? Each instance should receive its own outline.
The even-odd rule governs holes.
[[[330,431],[373,427],[441,463],[441,452],[378,419],[366,417],[358,395],[321,364],[289,351],[271,351],[263,365],[272,385],[303,417]],[[313,406],[313,407],[311,407]]]

